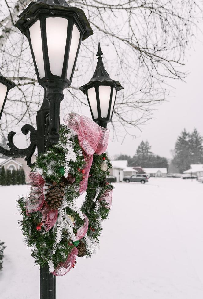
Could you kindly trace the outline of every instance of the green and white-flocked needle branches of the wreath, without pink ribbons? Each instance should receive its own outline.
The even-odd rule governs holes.
[[[57,208],[56,223],[47,231],[42,225],[42,211],[26,213],[26,198],[21,197],[18,200],[22,215],[19,223],[25,242],[32,248],[31,255],[35,263],[40,266],[48,264],[50,272],[54,272],[54,269],[56,271],[59,265],[67,261],[75,246],[80,254],[82,252],[86,257],[96,252],[102,231],[101,223],[109,214],[110,204],[105,199],[113,190],[113,185],[106,182],[106,176],[109,175],[111,168],[108,155],[94,154],[85,201],[81,209],[76,207],[75,200],[79,197],[79,188],[83,181],[82,170],[86,162],[76,133],[67,126],[61,125],[59,134],[59,143],[50,148],[47,153],[39,155],[31,170],[33,173],[39,173],[46,182],[45,186],[49,190],[48,193],[45,187],[43,188],[46,208],[49,208],[50,203],[46,200],[46,196],[48,194],[50,196],[50,193],[52,193],[50,197],[52,201],[54,198],[54,206],[60,204]],[[106,171],[101,168],[104,162],[107,165]],[[59,194],[63,195],[61,202],[57,197]],[[83,227],[85,217],[89,221],[88,229],[83,238],[77,241],[77,232]],[[81,247],[81,244],[84,246]]]

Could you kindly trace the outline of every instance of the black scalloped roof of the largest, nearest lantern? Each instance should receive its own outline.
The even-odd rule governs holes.
[[[16,22],[16,27],[27,36],[27,29],[39,18],[39,13],[50,14],[50,16],[58,16],[61,12],[62,16],[69,14],[76,15],[81,23],[84,33],[82,40],[85,40],[93,34],[90,23],[82,9],[71,7],[65,0],[38,0],[31,2],[27,8],[20,14],[19,20]]]

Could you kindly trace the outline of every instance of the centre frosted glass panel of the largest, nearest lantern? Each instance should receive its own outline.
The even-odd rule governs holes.
[[[68,20],[60,17],[46,18],[46,37],[50,71],[61,77],[64,64]]]

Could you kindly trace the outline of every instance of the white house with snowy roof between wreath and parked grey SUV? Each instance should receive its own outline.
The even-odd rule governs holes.
[[[128,166],[127,160],[114,160],[111,161],[112,169],[110,175],[116,177],[117,182],[122,182],[124,176],[135,175],[138,171]]]

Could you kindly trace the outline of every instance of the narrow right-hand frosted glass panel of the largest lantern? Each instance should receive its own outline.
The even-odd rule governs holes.
[[[70,45],[70,53],[68,58],[68,70],[67,70],[67,79],[70,80],[73,66],[76,60],[76,53],[78,50],[80,40],[80,32],[76,26],[76,24],[73,25],[73,31],[72,31],[72,38],[71,38],[71,45]]]

